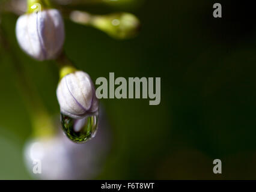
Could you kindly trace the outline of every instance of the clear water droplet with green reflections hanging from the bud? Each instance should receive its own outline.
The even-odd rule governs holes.
[[[70,140],[83,143],[96,135],[98,115],[87,116],[84,119],[73,119],[61,114],[62,130]]]

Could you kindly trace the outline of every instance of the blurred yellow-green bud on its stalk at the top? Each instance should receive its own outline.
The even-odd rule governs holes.
[[[114,13],[104,16],[90,15],[82,11],[73,11],[70,15],[73,22],[91,25],[118,39],[135,37],[139,32],[139,19],[130,13]]]

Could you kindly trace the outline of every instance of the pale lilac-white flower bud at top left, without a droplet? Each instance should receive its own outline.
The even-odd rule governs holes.
[[[64,44],[64,22],[55,9],[24,14],[16,23],[16,37],[22,49],[39,61],[55,59]]]

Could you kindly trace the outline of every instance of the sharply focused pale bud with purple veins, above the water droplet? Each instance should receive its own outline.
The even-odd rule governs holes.
[[[64,76],[59,82],[56,94],[61,113],[71,118],[81,119],[98,110],[93,82],[83,71]]]

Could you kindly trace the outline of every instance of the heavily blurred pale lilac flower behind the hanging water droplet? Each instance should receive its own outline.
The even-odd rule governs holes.
[[[100,109],[97,137],[86,144],[73,143],[61,132],[26,142],[25,164],[31,176],[35,179],[94,179],[111,149],[111,128],[104,109]]]

